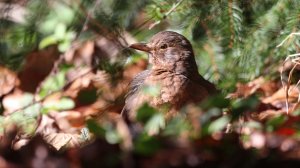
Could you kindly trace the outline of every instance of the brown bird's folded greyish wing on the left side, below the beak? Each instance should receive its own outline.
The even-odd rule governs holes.
[[[135,102],[134,99],[137,98],[138,91],[142,87],[146,77],[149,76],[149,74],[150,74],[150,70],[142,71],[130,83],[129,90],[126,95],[125,106],[121,112],[123,118],[128,119],[129,117],[128,115],[132,110],[133,108],[132,106],[134,105]]]

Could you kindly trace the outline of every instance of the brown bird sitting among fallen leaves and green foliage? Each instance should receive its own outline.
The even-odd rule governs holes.
[[[147,52],[152,66],[131,82],[121,113],[125,119],[133,120],[137,108],[145,102],[154,107],[168,104],[169,112],[173,113],[187,103],[201,102],[216,93],[214,84],[198,73],[192,45],[184,36],[162,31],[149,43],[129,47]],[[145,94],[142,88],[147,86],[159,86],[159,94],[154,97]]]

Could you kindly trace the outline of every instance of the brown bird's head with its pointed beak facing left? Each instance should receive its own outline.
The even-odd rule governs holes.
[[[155,34],[148,43],[135,43],[129,47],[149,53],[152,69],[176,73],[197,71],[191,43],[176,32],[162,31]]]

